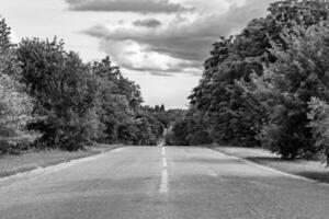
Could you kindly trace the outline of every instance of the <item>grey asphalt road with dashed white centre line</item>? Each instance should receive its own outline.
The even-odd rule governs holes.
[[[1,219],[328,219],[329,187],[204,148],[123,148],[0,180]]]

